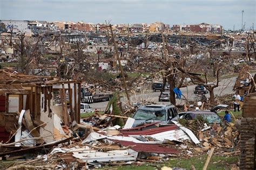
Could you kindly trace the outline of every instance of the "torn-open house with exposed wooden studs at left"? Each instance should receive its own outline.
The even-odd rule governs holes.
[[[32,141],[35,146],[68,138],[62,125],[80,121],[79,81],[61,81],[5,69],[0,70],[0,75],[1,141],[6,142],[14,135],[15,141],[25,136],[40,138]]]

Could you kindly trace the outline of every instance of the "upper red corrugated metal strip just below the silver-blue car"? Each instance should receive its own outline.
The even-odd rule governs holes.
[[[151,128],[146,130],[136,130],[136,131],[121,130],[120,133],[125,135],[151,135],[151,134],[161,133],[161,132],[175,130],[175,129],[177,129],[176,125],[167,125],[167,126]]]

